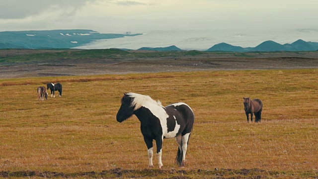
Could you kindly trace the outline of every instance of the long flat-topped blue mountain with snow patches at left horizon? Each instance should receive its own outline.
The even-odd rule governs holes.
[[[30,30],[0,32],[0,49],[26,48],[73,48],[88,44],[94,40],[112,39],[142,34],[103,34],[93,30]]]

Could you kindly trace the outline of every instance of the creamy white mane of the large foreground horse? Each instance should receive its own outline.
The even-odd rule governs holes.
[[[127,95],[134,98],[133,101],[131,102],[131,106],[135,106],[134,110],[141,108],[147,102],[154,103],[160,107],[163,107],[159,100],[155,101],[149,95],[142,95],[142,94],[137,94],[134,92],[129,92],[129,93],[127,93]]]

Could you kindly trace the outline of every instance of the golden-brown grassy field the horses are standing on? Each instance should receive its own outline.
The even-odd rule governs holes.
[[[0,177],[317,178],[317,77],[308,69],[0,80]],[[48,82],[62,83],[63,96],[37,101]],[[147,169],[139,120],[115,119],[130,91],[192,107],[186,168],[174,164],[169,139],[163,170]],[[261,123],[246,122],[248,96],[263,101]]]

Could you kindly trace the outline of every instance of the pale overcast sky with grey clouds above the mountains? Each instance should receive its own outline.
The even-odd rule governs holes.
[[[318,28],[318,0],[1,0],[0,31]]]

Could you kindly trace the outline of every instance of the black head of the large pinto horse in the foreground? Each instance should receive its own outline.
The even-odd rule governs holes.
[[[124,93],[121,98],[121,106],[117,112],[116,119],[118,122],[123,122],[134,114],[134,107],[131,106],[132,97]]]

